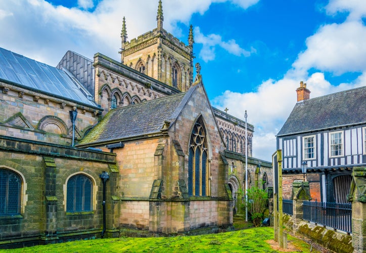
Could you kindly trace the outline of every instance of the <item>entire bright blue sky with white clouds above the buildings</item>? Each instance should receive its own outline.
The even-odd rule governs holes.
[[[11,4],[10,4],[11,3]],[[128,39],[156,27],[158,0],[0,0],[0,47],[56,66],[67,50],[120,60]],[[270,160],[296,103],[366,83],[366,1],[163,0],[164,28],[187,43],[213,106],[254,125],[253,156]],[[362,101],[364,102],[364,101]]]

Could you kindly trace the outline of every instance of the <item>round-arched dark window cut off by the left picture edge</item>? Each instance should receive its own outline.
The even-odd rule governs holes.
[[[0,169],[0,216],[20,215],[21,187],[17,174]]]

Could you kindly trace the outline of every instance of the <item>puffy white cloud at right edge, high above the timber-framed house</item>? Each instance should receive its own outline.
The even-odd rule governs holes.
[[[337,75],[366,70],[366,27],[356,21],[321,27],[306,39],[307,49],[293,67],[306,71],[316,68]]]

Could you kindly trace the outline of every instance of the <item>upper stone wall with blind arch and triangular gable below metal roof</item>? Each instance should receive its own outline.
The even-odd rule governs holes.
[[[0,85],[2,85],[0,83]],[[98,122],[96,108],[79,105],[17,87],[0,93],[0,135],[57,144],[72,142],[70,110],[76,109],[75,138]]]

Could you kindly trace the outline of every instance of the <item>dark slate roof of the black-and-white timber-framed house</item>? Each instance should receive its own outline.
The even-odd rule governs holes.
[[[298,102],[277,137],[366,123],[366,86]]]

